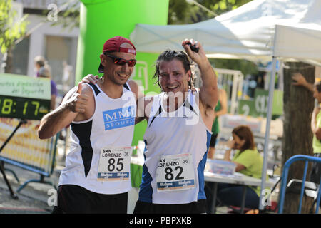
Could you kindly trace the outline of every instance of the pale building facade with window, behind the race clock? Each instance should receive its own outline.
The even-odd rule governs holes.
[[[59,10],[66,9],[72,1],[58,0],[16,0],[15,7],[22,7],[28,14],[26,38],[16,44],[13,51],[13,73],[35,76],[34,58],[44,56],[51,67],[51,78],[55,81],[58,96],[75,85],[78,27],[52,26],[63,20]],[[76,20],[76,19],[75,19]]]

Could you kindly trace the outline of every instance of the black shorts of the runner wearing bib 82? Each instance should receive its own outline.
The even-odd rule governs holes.
[[[137,201],[133,214],[201,214],[206,213],[206,199],[189,204],[152,204]]]

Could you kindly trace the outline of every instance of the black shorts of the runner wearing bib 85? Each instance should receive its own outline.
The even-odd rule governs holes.
[[[54,207],[53,214],[127,214],[127,192],[99,194],[78,185],[61,185],[57,197],[58,206]]]

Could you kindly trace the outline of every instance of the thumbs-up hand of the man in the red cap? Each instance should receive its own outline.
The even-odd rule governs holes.
[[[88,95],[81,94],[82,89],[83,84],[80,82],[78,83],[76,93],[73,93],[73,95],[67,102],[68,108],[73,113],[85,113],[85,108],[88,103]]]

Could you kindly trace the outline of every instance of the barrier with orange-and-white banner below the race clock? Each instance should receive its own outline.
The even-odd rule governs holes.
[[[18,119],[0,118],[0,144],[6,141],[17,123]],[[44,177],[50,177],[54,171],[58,134],[53,138],[40,140],[36,130],[38,125],[39,120],[27,120],[0,153],[0,162],[16,165],[40,175],[39,180],[31,179],[24,182],[17,192],[29,182],[46,183],[56,188],[54,183],[45,181]],[[17,177],[16,180],[19,181]]]

